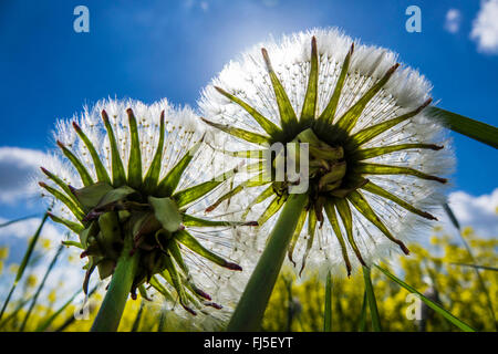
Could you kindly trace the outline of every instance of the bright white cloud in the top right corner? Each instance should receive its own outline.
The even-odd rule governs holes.
[[[498,53],[498,0],[483,0],[470,38],[484,53]]]

